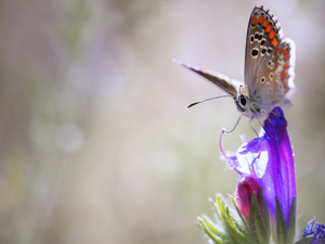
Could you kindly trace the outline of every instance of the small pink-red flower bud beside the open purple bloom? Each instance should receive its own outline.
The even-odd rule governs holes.
[[[257,194],[257,200],[260,207],[260,188],[257,182],[257,179],[252,176],[244,177],[238,183],[235,201],[239,211],[245,217],[247,223],[249,223],[249,211],[253,192],[256,192]]]

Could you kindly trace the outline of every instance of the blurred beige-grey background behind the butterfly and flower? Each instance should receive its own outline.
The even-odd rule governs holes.
[[[196,217],[238,182],[218,139],[239,114],[187,110],[223,92],[171,59],[243,80],[257,3],[296,41],[299,223],[325,221],[324,1],[1,0],[0,243],[206,243]]]

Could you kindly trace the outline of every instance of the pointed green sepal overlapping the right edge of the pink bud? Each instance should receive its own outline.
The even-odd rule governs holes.
[[[257,194],[252,193],[249,211],[249,228],[257,243],[269,243],[265,226],[260,213]]]

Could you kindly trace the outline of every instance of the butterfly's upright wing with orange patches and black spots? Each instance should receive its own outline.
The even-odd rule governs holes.
[[[289,102],[285,94],[294,89],[296,48],[292,40],[282,40],[282,36],[270,10],[255,7],[247,28],[245,86],[257,111]]]

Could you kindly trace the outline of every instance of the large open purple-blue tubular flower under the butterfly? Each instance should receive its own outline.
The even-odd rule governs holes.
[[[287,120],[283,111],[275,107],[265,119],[264,132],[260,138],[242,144],[235,155],[226,155],[221,147],[221,134],[220,150],[230,166],[242,177],[251,176],[257,179],[259,188],[263,190],[264,201],[275,228],[277,218],[275,196],[277,196],[284,224],[288,230],[290,208],[297,191],[292,149],[286,127]],[[295,217],[296,206],[295,202]]]

